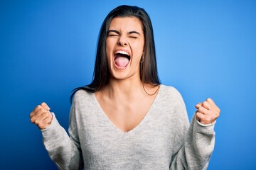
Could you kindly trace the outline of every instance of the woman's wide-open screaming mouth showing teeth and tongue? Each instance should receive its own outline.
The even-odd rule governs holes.
[[[126,51],[117,51],[114,52],[114,64],[119,68],[125,68],[129,64],[131,57]]]

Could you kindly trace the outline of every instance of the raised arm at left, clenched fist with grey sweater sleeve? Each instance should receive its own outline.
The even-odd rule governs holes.
[[[50,113],[50,108],[46,103],[31,112],[31,122],[38,125],[43,135],[43,144],[48,151],[50,159],[55,162],[58,169],[82,169],[82,153],[78,132],[76,130],[76,121],[74,106],[70,110],[70,136],[60,126],[54,113]]]

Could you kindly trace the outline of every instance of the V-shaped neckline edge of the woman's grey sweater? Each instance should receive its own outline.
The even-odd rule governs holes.
[[[102,114],[102,116],[105,117],[105,120],[107,122],[107,125],[112,126],[112,128],[114,128],[115,131],[121,133],[121,134],[132,134],[133,132],[139,130],[139,128],[142,127],[142,125],[144,125],[144,123],[146,123],[146,120],[149,118],[150,113],[152,111],[152,109],[154,108],[154,106],[156,105],[157,101],[159,100],[159,94],[161,93],[161,84],[159,84],[159,91],[156,94],[156,97],[154,98],[153,103],[151,104],[151,106],[149,107],[149,111],[146,112],[146,115],[144,115],[144,117],[142,118],[142,120],[131,130],[128,131],[124,131],[121,130],[120,128],[118,128],[116,125],[114,125],[114,123],[112,123],[112,121],[110,120],[110,118],[107,116],[107,114],[105,113],[105,111],[103,111],[102,107],[100,106],[99,101],[97,101],[97,98],[95,96],[95,93],[93,93],[93,99],[95,101],[95,103],[97,104],[98,110],[100,111],[100,113]]]

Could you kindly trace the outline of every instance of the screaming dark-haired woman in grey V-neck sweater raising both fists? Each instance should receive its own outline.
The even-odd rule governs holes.
[[[72,98],[70,136],[46,103],[31,112],[59,169],[207,169],[220,110],[208,98],[189,125],[181,95],[159,82],[143,8],[119,6],[108,14],[94,79]]]

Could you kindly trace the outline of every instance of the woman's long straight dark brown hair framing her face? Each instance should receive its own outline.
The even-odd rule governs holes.
[[[80,89],[94,93],[96,91],[100,91],[100,89],[103,86],[109,83],[110,71],[107,64],[106,54],[107,31],[110,27],[110,22],[113,18],[130,16],[139,18],[139,21],[142,22],[142,29],[144,31],[144,61],[141,62],[140,65],[140,79],[144,84],[150,84],[152,86],[157,86],[160,84],[156,67],[154,33],[149,15],[148,13],[146,13],[144,8],[123,5],[118,6],[117,8],[114,8],[112,11],[110,11],[110,13],[107,15],[100,28],[100,35],[97,42],[97,53],[92,83],[74,89],[73,94],[70,97],[70,100],[72,100],[75,92]]]

